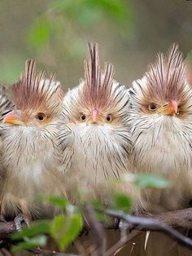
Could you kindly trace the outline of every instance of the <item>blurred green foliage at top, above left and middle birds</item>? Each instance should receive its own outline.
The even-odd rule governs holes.
[[[123,33],[124,28],[130,24],[131,16],[129,2],[125,4],[123,0],[50,1],[46,11],[28,29],[28,46],[33,51],[41,51],[45,46],[62,43],[66,53],[78,58],[85,53],[82,47],[85,42],[83,36],[79,36],[79,29],[85,33],[86,30],[102,25],[103,20],[107,19]]]

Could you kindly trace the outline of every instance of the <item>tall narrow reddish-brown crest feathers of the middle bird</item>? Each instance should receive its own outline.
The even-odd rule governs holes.
[[[83,102],[94,108],[107,107],[110,103],[114,68],[105,64],[104,72],[99,66],[98,43],[88,43],[89,56],[85,60],[85,84]]]

